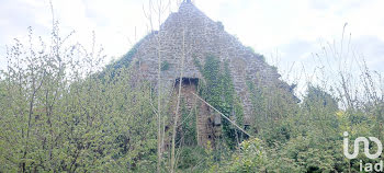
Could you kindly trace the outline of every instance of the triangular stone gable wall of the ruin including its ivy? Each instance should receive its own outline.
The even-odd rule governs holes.
[[[183,78],[199,79],[202,81],[199,83],[208,85],[202,88],[200,94],[210,95],[204,99],[219,106],[225,114],[241,112],[239,122],[244,125],[256,120],[247,81],[251,81],[256,88],[279,89],[283,94],[293,96],[289,85],[279,79],[276,69],[269,66],[262,55],[244,46],[225,31],[221,22],[212,21],[190,2],[183,2],[179,11],[171,13],[161,24],[158,32],[153,32],[140,41],[131,56],[134,79],[147,80],[156,91],[171,94],[182,71]],[[196,61],[201,64],[200,67]],[[207,66],[210,69],[205,69]],[[221,88],[223,83],[226,85]],[[205,118],[205,124],[210,124],[208,118]],[[223,122],[223,127],[225,124]],[[225,128],[224,132],[234,134]]]

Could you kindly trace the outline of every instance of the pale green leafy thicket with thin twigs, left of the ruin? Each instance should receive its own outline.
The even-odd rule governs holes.
[[[153,165],[156,151],[150,88],[94,76],[102,53],[18,42],[0,83],[0,172],[102,172]],[[80,56],[81,58],[79,58]],[[108,82],[105,82],[108,81]],[[150,168],[150,166],[145,166]]]

